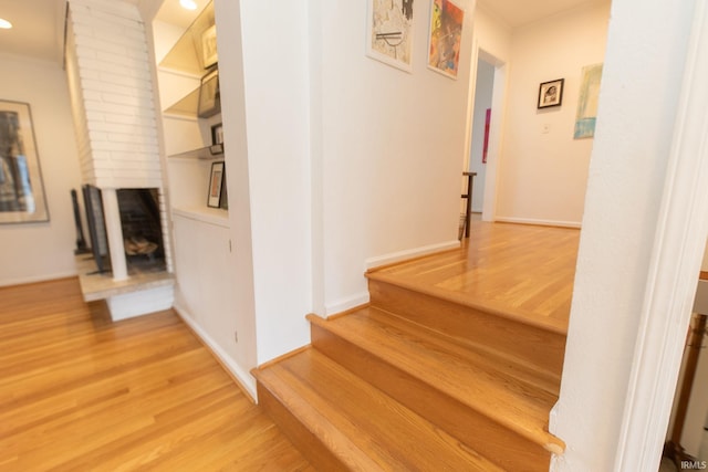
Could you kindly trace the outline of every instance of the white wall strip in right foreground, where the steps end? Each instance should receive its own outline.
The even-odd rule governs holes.
[[[639,0],[613,1],[561,396],[551,424],[568,444],[553,463],[556,471],[615,470],[695,3],[646,8]]]

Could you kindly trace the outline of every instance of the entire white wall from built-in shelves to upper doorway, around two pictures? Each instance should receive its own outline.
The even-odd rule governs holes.
[[[229,105],[223,122],[229,143],[244,137],[237,191],[250,204],[229,213],[235,229],[250,222],[259,363],[306,344],[315,306],[365,302],[367,261],[458,244],[472,18],[452,81],[425,67],[429,12],[415,14],[407,74],[365,56],[364,3],[240,3],[243,86],[225,71],[222,98],[242,94],[243,116],[230,124]],[[236,19],[217,3],[219,44]]]

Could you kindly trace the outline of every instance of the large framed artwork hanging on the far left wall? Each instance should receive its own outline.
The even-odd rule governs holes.
[[[0,223],[49,221],[28,103],[0,101]]]

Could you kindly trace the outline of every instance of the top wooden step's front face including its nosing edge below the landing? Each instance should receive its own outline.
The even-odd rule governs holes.
[[[565,352],[566,324],[529,316],[521,310],[475,303],[464,296],[402,282],[385,272],[369,272],[371,305],[430,329],[471,343],[478,349],[502,352],[519,364],[537,367],[560,384]]]

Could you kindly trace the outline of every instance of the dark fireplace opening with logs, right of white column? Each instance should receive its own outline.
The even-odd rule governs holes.
[[[165,271],[158,189],[118,189],[116,193],[128,273]]]

